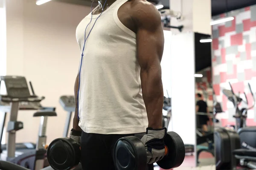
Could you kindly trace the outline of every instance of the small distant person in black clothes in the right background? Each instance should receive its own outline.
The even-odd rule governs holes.
[[[198,97],[198,101],[196,103],[196,108],[195,108],[196,112],[209,113],[208,107],[207,107],[207,103],[204,102],[203,96],[198,93],[197,97]],[[208,116],[207,115],[199,114],[198,118],[199,118],[199,122],[198,123],[202,127],[202,130],[204,132],[207,132],[208,131],[207,121],[209,120]],[[204,134],[204,132],[203,132],[203,134]]]

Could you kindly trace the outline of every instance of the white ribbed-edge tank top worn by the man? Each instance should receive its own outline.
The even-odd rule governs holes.
[[[99,17],[86,40],[80,73],[79,126],[86,133],[142,133],[148,126],[136,34],[117,17],[125,2],[116,0],[100,17],[93,15],[86,30],[87,36]],[[90,19],[88,14],[76,28],[81,53]]]

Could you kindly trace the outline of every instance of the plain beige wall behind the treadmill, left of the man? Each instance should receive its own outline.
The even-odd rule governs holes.
[[[48,119],[47,142],[62,136],[66,112],[59,97],[73,94],[80,50],[76,26],[90,7],[51,1],[37,6],[35,0],[7,0],[7,71],[31,80],[36,94],[45,96],[44,106],[56,106],[58,117]],[[17,142],[35,142],[39,118],[33,111],[21,111],[24,129]]]

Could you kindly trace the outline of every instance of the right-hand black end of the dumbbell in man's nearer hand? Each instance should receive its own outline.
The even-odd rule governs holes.
[[[168,147],[168,155],[157,161],[158,166],[167,170],[179,167],[185,159],[183,140],[175,132],[167,132],[164,143]]]

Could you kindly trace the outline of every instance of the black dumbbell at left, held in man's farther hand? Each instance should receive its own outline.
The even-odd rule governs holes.
[[[54,170],[71,170],[81,159],[80,145],[69,137],[55,139],[48,146],[47,159]]]

